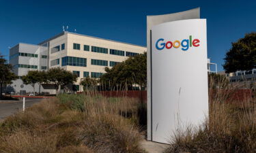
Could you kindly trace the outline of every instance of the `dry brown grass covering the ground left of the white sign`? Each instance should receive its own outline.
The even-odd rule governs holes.
[[[0,123],[0,152],[142,152],[139,101],[59,95]]]

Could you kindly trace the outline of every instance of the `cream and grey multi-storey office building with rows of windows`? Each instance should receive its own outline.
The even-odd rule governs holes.
[[[51,67],[63,67],[79,77],[73,88],[83,90],[79,85],[82,78],[100,78],[105,73],[105,67],[111,68],[129,56],[143,54],[146,50],[144,46],[63,31],[38,45],[20,43],[10,48],[10,64],[14,65],[14,73],[20,77],[29,70],[46,71]],[[10,86],[14,92],[33,90],[21,80],[14,81]],[[55,94],[53,88],[46,85],[41,91]]]

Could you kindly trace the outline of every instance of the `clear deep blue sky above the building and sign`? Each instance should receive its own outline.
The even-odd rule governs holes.
[[[0,0],[0,52],[19,42],[38,44],[69,31],[146,46],[146,16],[201,7],[208,22],[208,57],[223,67],[231,42],[256,31],[256,1],[5,1]],[[6,57],[8,58],[8,57]]]

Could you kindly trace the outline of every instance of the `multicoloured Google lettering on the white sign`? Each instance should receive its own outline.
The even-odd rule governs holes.
[[[158,39],[156,41],[156,49],[162,50],[164,48],[171,49],[173,48],[180,48],[182,46],[182,50],[186,51],[188,50],[189,47],[198,47],[200,46],[199,44],[200,40],[199,39],[192,39],[192,35],[189,36],[189,39],[183,39],[182,41],[175,40],[175,41],[167,41],[165,43],[165,39]]]

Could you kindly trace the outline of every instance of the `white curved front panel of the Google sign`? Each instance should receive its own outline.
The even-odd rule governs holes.
[[[156,24],[150,36],[148,139],[169,143],[177,129],[199,126],[208,116],[206,20]]]

